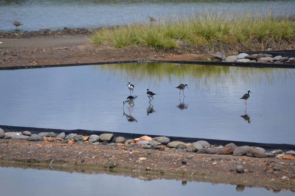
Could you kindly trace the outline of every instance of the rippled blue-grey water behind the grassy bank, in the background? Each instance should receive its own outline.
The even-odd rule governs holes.
[[[178,16],[179,14],[257,11],[265,14],[268,9],[279,12],[278,15],[292,12],[295,1],[252,0],[34,0],[0,1],[0,31],[13,31],[12,20],[24,24],[22,31],[39,29],[97,28],[133,21],[146,21],[147,16]],[[279,8],[279,9],[278,9]]]

